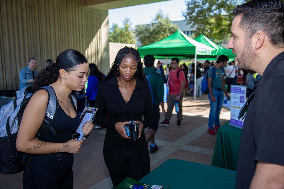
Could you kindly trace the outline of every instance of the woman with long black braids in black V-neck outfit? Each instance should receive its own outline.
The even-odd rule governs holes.
[[[150,172],[143,129],[153,122],[154,117],[151,91],[136,49],[126,46],[118,51],[95,103],[95,106],[99,105],[95,123],[107,128],[103,153],[113,186],[126,177],[141,179]],[[124,125],[132,120],[140,124],[136,142],[124,129]]]

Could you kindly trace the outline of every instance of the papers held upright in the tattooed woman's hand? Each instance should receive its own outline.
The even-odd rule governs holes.
[[[85,124],[85,122],[93,120],[95,118],[95,114],[97,113],[97,111],[98,111],[98,108],[93,108],[93,107],[84,108],[80,116],[80,121],[81,121],[80,125],[78,129],[76,130],[76,132],[80,134],[78,141],[80,141],[84,136],[84,133],[82,132],[83,125]]]

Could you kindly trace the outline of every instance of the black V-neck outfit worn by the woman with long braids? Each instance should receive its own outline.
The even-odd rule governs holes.
[[[151,91],[147,83],[134,77],[136,86],[126,103],[120,93],[117,76],[104,81],[97,93],[96,106],[99,109],[95,123],[107,128],[104,143],[104,159],[113,186],[117,186],[126,177],[140,180],[150,172],[150,158],[145,133],[134,142],[124,139],[115,129],[117,122],[139,120],[148,127],[153,122],[153,104]]]

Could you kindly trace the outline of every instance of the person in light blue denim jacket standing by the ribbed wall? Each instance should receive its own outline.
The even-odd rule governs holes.
[[[30,58],[28,61],[28,66],[24,67],[20,71],[20,90],[27,86],[32,86],[34,79],[37,77],[38,72],[36,70],[36,59],[34,57]]]

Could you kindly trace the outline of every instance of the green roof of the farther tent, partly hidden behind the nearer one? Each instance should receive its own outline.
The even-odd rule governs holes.
[[[225,55],[228,58],[234,58],[235,57],[235,54],[232,53],[232,50],[224,48],[224,47],[214,43],[213,41],[208,39],[205,35],[199,35],[194,40],[198,41],[199,43],[202,43],[202,44],[205,44],[207,46],[210,46],[212,48],[218,49],[218,54],[217,54],[218,56]]]

